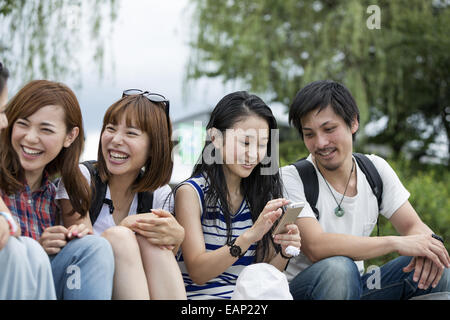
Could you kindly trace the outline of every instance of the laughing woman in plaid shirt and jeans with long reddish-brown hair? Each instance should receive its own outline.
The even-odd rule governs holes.
[[[0,142],[0,197],[19,221],[21,234],[38,240],[49,255],[56,297],[110,299],[114,274],[110,244],[88,235],[83,225],[58,225],[52,176],[59,175],[66,183],[68,201],[81,215],[87,214],[90,204],[90,188],[77,165],[84,132],[74,93],[61,83],[32,81],[9,102],[6,116],[9,125]],[[75,228],[77,235],[72,232]],[[34,271],[39,276],[41,271]]]

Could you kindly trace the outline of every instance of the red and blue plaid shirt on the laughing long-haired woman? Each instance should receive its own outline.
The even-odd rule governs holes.
[[[30,187],[25,185],[24,190],[13,195],[0,190],[0,196],[13,217],[20,222],[22,236],[39,240],[45,229],[55,225],[59,212],[55,200],[56,186],[46,172],[39,190],[31,192]]]

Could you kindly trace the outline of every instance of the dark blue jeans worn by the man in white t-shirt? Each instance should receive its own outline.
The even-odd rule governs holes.
[[[445,269],[436,288],[422,290],[413,281],[414,271],[403,268],[411,257],[398,257],[375,274],[360,276],[352,259],[342,256],[323,259],[300,272],[289,284],[295,300],[406,300],[429,293],[450,292],[450,269]],[[378,288],[379,287],[379,288]]]

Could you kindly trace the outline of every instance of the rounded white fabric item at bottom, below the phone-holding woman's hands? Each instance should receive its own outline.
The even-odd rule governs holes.
[[[245,267],[237,279],[231,299],[293,300],[284,273],[268,263],[256,263]]]

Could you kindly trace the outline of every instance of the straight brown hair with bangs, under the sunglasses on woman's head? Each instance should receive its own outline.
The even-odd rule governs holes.
[[[128,126],[134,120],[140,130],[148,134],[150,141],[149,158],[145,163],[144,174],[131,187],[132,192],[155,191],[170,182],[173,161],[172,125],[166,115],[163,103],[154,103],[142,95],[124,97],[106,111],[103,118],[103,135],[108,124],[117,124],[122,115],[126,116]],[[102,152],[102,142],[98,147],[98,171],[103,182],[107,182],[110,172],[106,167]]]

